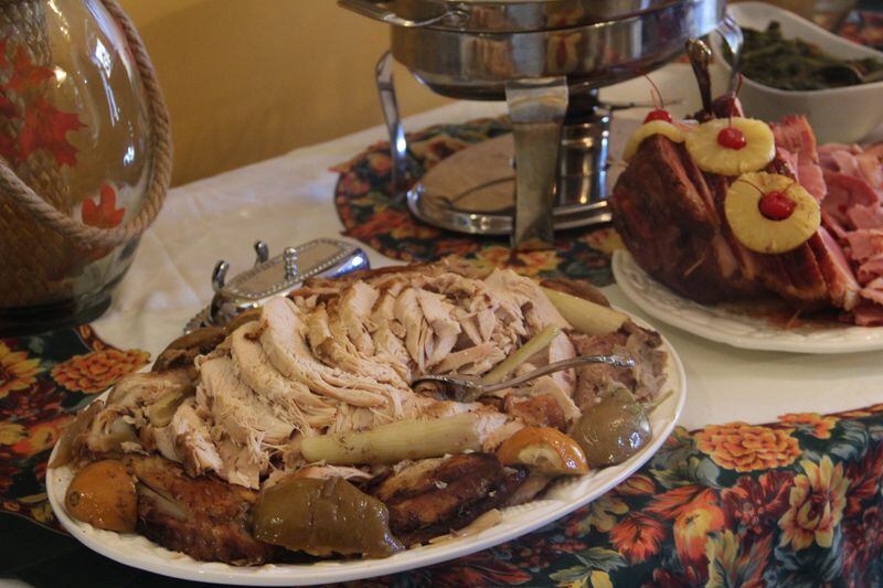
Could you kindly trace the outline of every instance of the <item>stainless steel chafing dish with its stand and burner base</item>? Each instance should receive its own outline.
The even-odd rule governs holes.
[[[391,24],[391,52],[377,84],[391,135],[393,170],[406,175],[407,146],[398,119],[391,60],[434,92],[456,98],[507,100],[518,163],[515,197],[472,204],[427,188],[408,192],[427,222],[467,233],[513,234],[522,248],[549,246],[557,227],[609,220],[603,202],[611,108],[597,88],[645,74],[684,43],[715,30],[725,0],[339,0]],[[550,153],[552,153],[550,156]],[[445,165],[443,162],[440,165]],[[439,168],[434,168],[434,172]],[[507,170],[488,170],[493,183]],[[517,178],[512,178],[512,175]],[[489,184],[490,185],[490,184]],[[497,188],[499,192],[499,186]]]

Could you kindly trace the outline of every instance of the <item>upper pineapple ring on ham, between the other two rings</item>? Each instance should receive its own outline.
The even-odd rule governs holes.
[[[728,149],[717,142],[717,135],[733,126],[745,136],[742,149]],[[702,170],[722,175],[758,171],[776,156],[776,140],[769,125],[753,118],[715,118],[687,135],[687,150]]]

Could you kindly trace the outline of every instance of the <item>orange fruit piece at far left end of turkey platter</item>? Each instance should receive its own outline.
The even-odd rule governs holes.
[[[131,533],[138,522],[135,480],[115,459],[79,470],[67,487],[64,505],[71,516],[98,528]]]

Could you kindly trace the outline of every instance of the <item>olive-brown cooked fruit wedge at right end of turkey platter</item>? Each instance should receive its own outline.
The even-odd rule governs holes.
[[[593,468],[621,463],[652,436],[643,406],[625,387],[585,408],[570,434]]]

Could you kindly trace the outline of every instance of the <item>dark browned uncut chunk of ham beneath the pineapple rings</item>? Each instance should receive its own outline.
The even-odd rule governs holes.
[[[804,127],[805,121],[787,125]],[[778,131],[788,137],[804,132]],[[780,156],[769,171],[794,177]],[[638,264],[688,298],[720,302],[772,290],[801,308],[830,304],[820,267],[829,264],[820,264],[808,244],[762,255],[736,240],[723,212],[731,183],[731,178],[700,171],[682,145],[650,137],[614,188],[614,224]],[[827,256],[825,247],[819,250]]]

